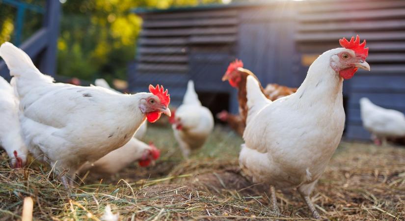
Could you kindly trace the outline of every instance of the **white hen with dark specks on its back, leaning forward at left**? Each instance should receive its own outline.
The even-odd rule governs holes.
[[[49,161],[58,174],[66,171],[61,174],[65,186],[73,184],[85,162],[126,144],[145,118],[155,122],[162,113],[170,116],[170,96],[159,85],[150,85],[151,93],[127,95],[98,86],[54,83],[11,43],[1,45],[0,56],[15,79],[28,150]]]

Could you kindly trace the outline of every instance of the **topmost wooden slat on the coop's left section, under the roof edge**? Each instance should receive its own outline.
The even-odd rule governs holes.
[[[189,19],[189,18],[216,18],[216,17],[232,17],[237,15],[236,10],[212,10],[212,11],[192,11],[192,12],[173,12],[173,13],[158,13],[145,14],[142,16],[145,20],[173,20],[173,19]]]

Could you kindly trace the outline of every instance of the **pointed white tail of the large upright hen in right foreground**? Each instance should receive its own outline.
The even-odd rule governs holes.
[[[271,103],[260,90],[259,82],[252,76],[247,76],[246,98],[246,105],[249,110],[248,117],[256,115],[259,110],[262,110],[263,107]]]

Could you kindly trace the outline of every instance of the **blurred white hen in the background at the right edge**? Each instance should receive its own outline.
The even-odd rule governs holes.
[[[374,142],[386,145],[387,138],[405,137],[405,115],[396,110],[378,107],[368,98],[360,99],[360,114],[363,127],[368,130]]]

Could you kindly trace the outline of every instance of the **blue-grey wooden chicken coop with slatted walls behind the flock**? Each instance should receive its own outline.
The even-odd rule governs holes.
[[[359,34],[367,39],[372,71],[344,83],[345,136],[369,138],[361,97],[405,112],[404,0],[255,1],[134,13],[143,25],[128,72],[133,91],[162,83],[176,106],[192,79],[211,111],[238,112],[236,90],[221,82],[230,61],[242,59],[264,85],[298,87],[318,55]]]

